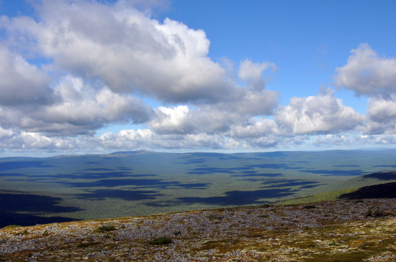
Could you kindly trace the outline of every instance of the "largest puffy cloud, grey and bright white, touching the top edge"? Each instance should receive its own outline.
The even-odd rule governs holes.
[[[42,3],[36,6],[38,22],[15,17],[6,29],[31,39],[34,50],[59,70],[99,77],[113,92],[167,102],[219,101],[235,89],[225,81],[225,69],[207,57],[202,30],[168,18],[161,24],[124,1]]]

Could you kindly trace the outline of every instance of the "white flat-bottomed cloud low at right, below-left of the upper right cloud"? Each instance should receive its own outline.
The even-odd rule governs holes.
[[[292,97],[289,105],[274,115],[280,128],[293,134],[323,134],[351,130],[362,124],[364,116],[343,105],[331,88],[316,96]]]

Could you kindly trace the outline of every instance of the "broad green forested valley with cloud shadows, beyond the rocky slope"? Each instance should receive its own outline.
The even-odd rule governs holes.
[[[396,181],[396,150],[0,159],[0,227],[260,205]],[[327,197],[317,200],[326,200]]]

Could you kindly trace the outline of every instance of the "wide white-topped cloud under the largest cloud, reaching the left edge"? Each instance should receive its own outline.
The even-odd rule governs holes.
[[[50,136],[94,134],[107,124],[143,123],[154,111],[141,99],[95,89],[80,78],[63,77],[53,88],[61,101],[45,107],[0,107],[2,125]]]

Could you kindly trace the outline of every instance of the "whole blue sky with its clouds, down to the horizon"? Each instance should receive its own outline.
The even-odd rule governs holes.
[[[0,0],[0,157],[396,145],[395,1]]]

